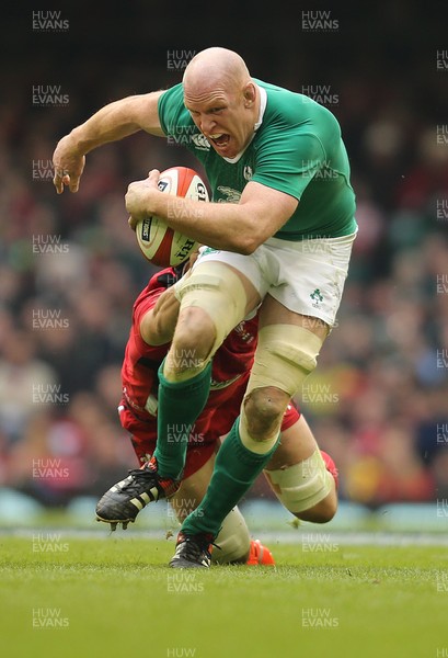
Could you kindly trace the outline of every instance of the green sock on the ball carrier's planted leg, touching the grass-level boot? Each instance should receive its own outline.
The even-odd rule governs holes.
[[[218,451],[203,501],[182,524],[186,534],[210,533],[216,537],[227,514],[250,489],[277,447],[278,441],[262,455],[248,450],[240,439],[239,421],[238,418]]]

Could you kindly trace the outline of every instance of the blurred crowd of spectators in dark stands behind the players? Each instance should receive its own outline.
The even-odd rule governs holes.
[[[297,400],[338,466],[341,497],[372,509],[448,498],[444,4],[323,2],[263,16],[230,1],[215,18],[150,5],[80,2],[53,18],[11,8],[4,21],[0,486],[64,507],[136,466],[116,406],[133,302],[154,268],[124,193],[151,168],[200,168],[137,134],[89,155],[80,191],[58,196],[51,155],[102,105],[170,87],[197,50],[223,45],[254,77],[326,104],[351,158],[359,235],[337,327]],[[261,480],[252,495],[271,496]]]

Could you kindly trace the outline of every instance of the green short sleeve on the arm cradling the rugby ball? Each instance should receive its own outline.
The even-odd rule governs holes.
[[[300,200],[324,164],[325,151],[318,137],[283,131],[264,141],[252,180]]]

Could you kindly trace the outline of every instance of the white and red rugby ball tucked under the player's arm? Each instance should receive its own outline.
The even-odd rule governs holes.
[[[172,167],[162,171],[158,185],[164,194],[208,201],[205,182],[188,167]],[[174,200],[172,212],[176,212]],[[196,240],[173,230],[160,217],[140,219],[136,225],[136,236],[145,258],[161,268],[182,264],[198,247]]]

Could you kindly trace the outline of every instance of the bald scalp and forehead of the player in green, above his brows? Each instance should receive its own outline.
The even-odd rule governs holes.
[[[250,81],[244,59],[233,50],[219,47],[206,48],[195,55],[183,77],[186,93],[216,86],[227,90],[241,89]]]

